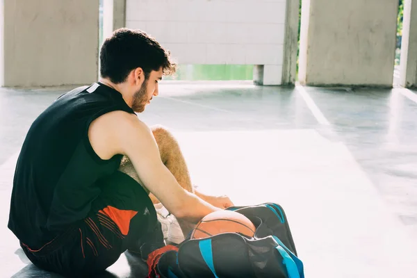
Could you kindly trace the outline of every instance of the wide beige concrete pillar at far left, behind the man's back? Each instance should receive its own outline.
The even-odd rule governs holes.
[[[97,81],[99,0],[2,0],[0,6],[1,85]]]

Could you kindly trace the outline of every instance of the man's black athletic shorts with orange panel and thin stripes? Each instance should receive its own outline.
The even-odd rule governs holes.
[[[127,249],[163,242],[152,201],[135,180],[117,171],[101,188],[87,218],[39,250],[21,243],[34,265],[64,276],[84,277],[106,270]]]

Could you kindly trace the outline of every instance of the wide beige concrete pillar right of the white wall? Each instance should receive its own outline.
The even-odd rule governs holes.
[[[398,1],[302,0],[299,80],[392,87]]]

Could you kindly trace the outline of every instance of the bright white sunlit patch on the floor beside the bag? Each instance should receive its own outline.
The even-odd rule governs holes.
[[[342,143],[313,130],[175,134],[202,190],[284,207],[306,277],[412,277],[417,245]]]

